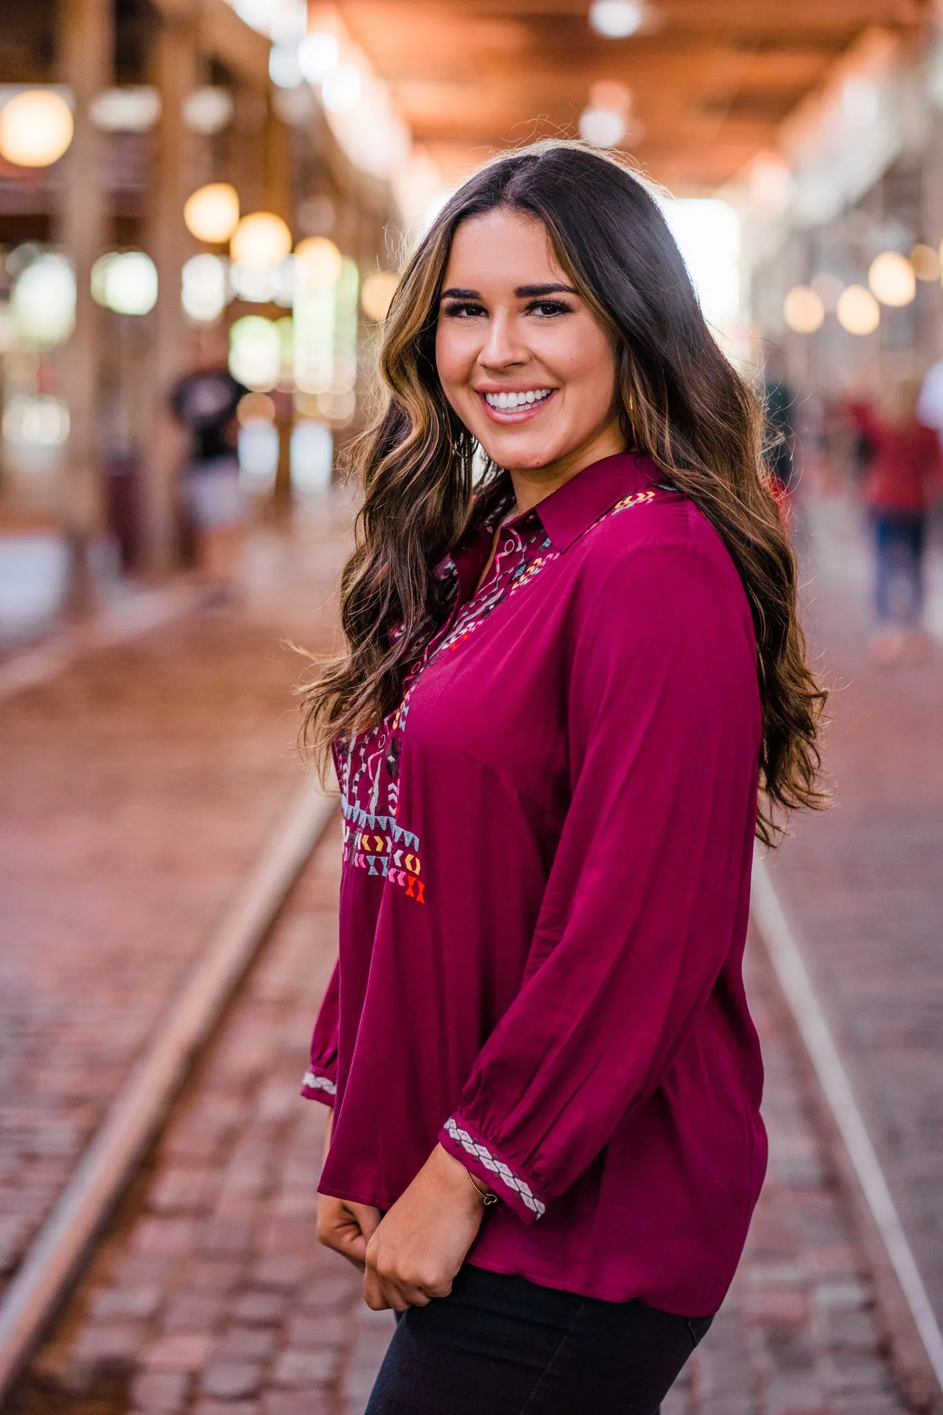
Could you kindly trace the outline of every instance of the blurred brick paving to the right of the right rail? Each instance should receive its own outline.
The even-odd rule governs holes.
[[[919,666],[869,662],[868,555],[854,525],[826,504],[807,543],[836,801],[796,824],[772,870],[943,1320],[943,648]],[[937,552],[927,618],[940,637],[942,572]]]

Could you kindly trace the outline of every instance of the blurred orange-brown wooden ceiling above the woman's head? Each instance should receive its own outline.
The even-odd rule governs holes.
[[[869,25],[916,35],[927,0],[650,0],[626,40],[590,0],[339,0],[447,178],[544,134],[573,136],[595,79],[633,95],[631,151],[677,192],[710,191],[775,144],[778,125]]]

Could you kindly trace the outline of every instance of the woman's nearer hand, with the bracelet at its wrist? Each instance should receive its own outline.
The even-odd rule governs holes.
[[[368,1307],[406,1312],[447,1298],[484,1214],[465,1166],[437,1145],[366,1245]]]

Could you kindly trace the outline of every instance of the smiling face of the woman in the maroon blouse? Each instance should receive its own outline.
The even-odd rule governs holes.
[[[621,451],[612,340],[557,265],[546,228],[506,208],[457,229],[435,365],[492,461],[573,475]]]

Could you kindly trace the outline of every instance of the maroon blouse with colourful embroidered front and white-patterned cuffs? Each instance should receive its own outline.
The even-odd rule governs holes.
[[[339,962],[304,1094],[321,1190],[389,1208],[438,1139],[503,1203],[468,1261],[717,1310],[766,1163],[744,993],[746,596],[655,467],[587,467],[437,569],[399,709],[338,743]]]

